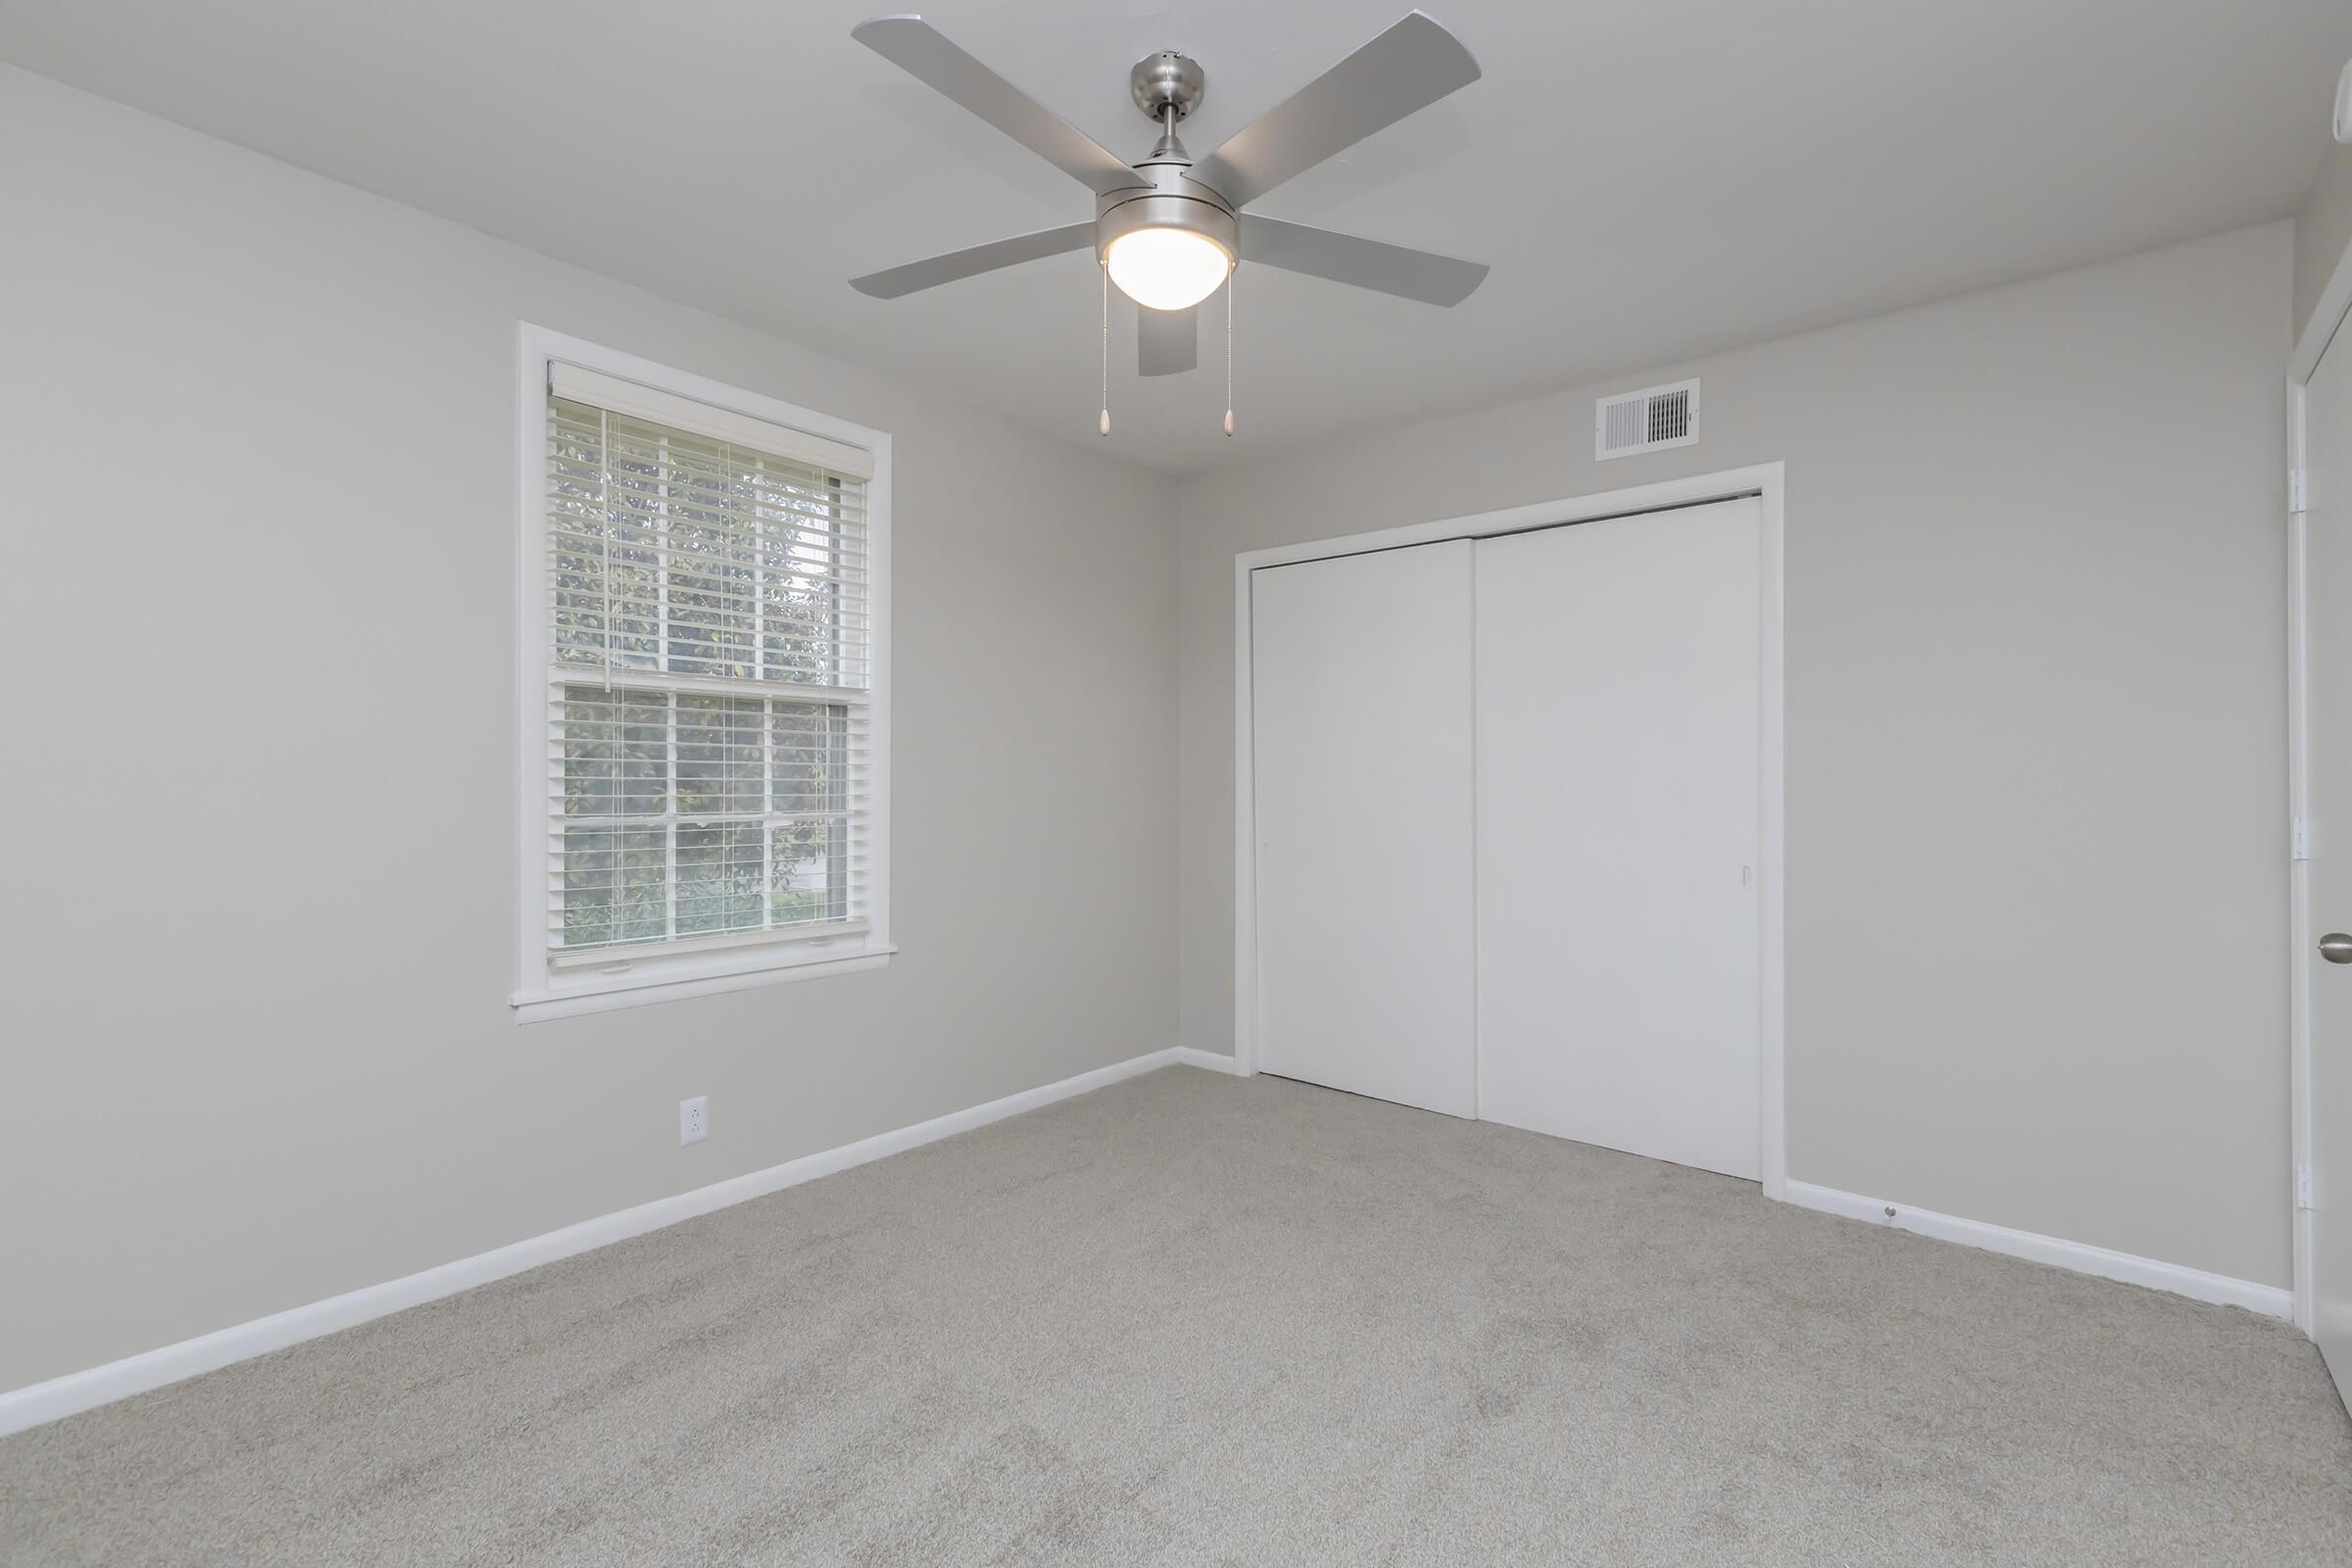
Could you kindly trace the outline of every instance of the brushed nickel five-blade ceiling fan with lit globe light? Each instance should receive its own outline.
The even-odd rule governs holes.
[[[1143,306],[1136,346],[1141,371],[1167,376],[1200,362],[1197,306],[1216,294],[1240,261],[1430,306],[1458,306],[1486,277],[1486,266],[1477,261],[1242,212],[1294,174],[1479,78],[1477,61],[1461,40],[1421,12],[1324,71],[1200,162],[1176,139],[1176,122],[1192,113],[1207,89],[1200,61],[1188,54],[1152,54],[1129,73],[1136,108],[1160,125],[1160,146],[1143,162],[1127,165],[964,54],[922,16],[877,16],[849,35],[1094,190],[1089,223],[993,240],[851,277],[849,284],[861,294],[898,299],[1091,244],[1108,280]],[[1225,418],[1230,433],[1230,411]],[[1108,411],[1103,421],[1108,433]]]

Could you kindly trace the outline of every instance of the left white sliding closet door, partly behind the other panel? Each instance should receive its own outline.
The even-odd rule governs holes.
[[[1251,574],[1258,1067],[1477,1114],[1470,543]]]

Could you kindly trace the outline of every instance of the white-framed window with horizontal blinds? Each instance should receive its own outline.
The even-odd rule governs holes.
[[[884,961],[889,437],[524,339],[517,1013]]]

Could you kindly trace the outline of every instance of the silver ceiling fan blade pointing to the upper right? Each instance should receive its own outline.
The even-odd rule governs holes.
[[[1414,12],[1192,167],[1235,207],[1479,78],[1454,33]]]

